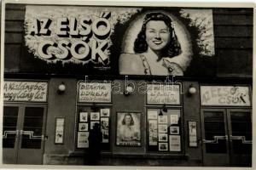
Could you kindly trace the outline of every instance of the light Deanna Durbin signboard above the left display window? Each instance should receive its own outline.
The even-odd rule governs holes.
[[[79,82],[78,101],[83,103],[111,103],[111,83]]]

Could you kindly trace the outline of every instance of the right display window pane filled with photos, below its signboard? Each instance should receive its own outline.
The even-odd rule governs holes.
[[[148,108],[147,148],[158,153],[182,153],[183,121],[180,108]]]

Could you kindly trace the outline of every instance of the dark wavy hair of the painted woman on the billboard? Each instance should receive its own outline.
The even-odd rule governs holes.
[[[170,42],[162,49],[163,56],[173,57],[181,54],[181,48],[179,42],[177,42],[177,36],[172,28],[172,20],[162,13],[149,13],[145,15],[143,20],[142,30],[138,33],[137,38],[134,42],[134,52],[141,54],[148,50],[148,43],[146,42],[146,25],[150,20],[162,20],[170,31]]]

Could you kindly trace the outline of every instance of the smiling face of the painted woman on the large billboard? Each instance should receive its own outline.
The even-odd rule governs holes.
[[[170,42],[170,31],[162,20],[150,20],[146,25],[146,42],[148,47],[159,51]]]

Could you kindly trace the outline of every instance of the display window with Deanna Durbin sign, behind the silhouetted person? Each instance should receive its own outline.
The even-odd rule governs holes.
[[[84,82],[77,84],[75,149],[87,150],[90,131],[98,123],[102,132],[102,151],[110,150],[111,83]]]

